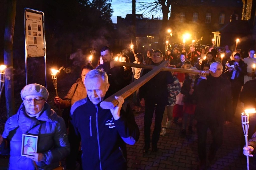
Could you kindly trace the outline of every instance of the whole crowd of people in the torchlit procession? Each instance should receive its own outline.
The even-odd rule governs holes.
[[[241,57],[240,50],[231,52],[228,46],[213,49],[207,45],[184,48],[175,44],[166,54],[149,49],[145,58],[137,53],[134,64],[163,66],[168,61],[169,67],[200,71],[198,74],[161,71],[132,94],[133,104],[115,96],[118,104],[112,109],[103,109],[100,103],[130,83],[140,82],[140,77],[151,70],[136,65],[116,66],[108,46],[102,47],[100,53],[101,64],[95,69],[83,66],[81,77],[67,95],[54,98],[55,105],[66,109],[62,117],[47,103],[49,93],[44,86],[29,84],[22,89],[20,109],[7,120],[0,135],[0,154],[10,154],[9,169],[53,169],[61,163],[67,169],[76,169],[79,160],[80,169],[127,169],[126,144],[133,145],[140,135],[133,110],[140,112],[142,107],[145,108],[144,154],[150,147],[157,152],[160,135],[165,136],[171,122],[177,123],[182,118],[181,135],[187,134],[187,126],[188,133],[197,129],[198,169],[205,169],[207,158],[211,163],[215,160],[223,142],[223,125],[232,121],[238,100],[245,107],[256,107],[254,49],[249,49],[248,57]],[[129,63],[130,59],[123,55],[121,62]],[[249,156],[256,147],[254,127],[256,124],[252,123],[250,146],[244,147],[244,154]],[[212,143],[207,157],[208,129]],[[24,135],[31,137],[25,141],[27,145]],[[31,142],[33,137],[38,140]],[[36,149],[32,143],[36,143]]]

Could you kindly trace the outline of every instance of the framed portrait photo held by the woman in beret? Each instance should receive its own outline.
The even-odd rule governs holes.
[[[37,152],[38,136],[22,134],[21,156],[32,155]]]

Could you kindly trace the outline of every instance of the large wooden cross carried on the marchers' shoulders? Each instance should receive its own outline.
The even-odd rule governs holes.
[[[129,67],[137,67],[137,68],[145,68],[145,69],[152,69],[147,74],[140,77],[139,80],[132,82],[131,84],[127,85],[126,87],[122,88],[112,96],[108,97],[104,101],[100,103],[100,106],[103,109],[112,109],[114,108],[118,102],[115,99],[115,96],[122,96],[126,99],[128,96],[133,94],[137,89],[147,83],[150,79],[152,79],[155,75],[157,75],[160,71],[169,71],[169,72],[180,72],[180,73],[191,73],[191,74],[199,74],[200,70],[188,70],[182,68],[171,68],[166,67],[168,66],[168,62],[164,61],[158,66],[153,65],[144,65],[144,64],[132,64],[132,63],[123,63],[123,62],[115,62],[115,66],[129,66]],[[209,75],[209,71],[206,71],[206,75]]]

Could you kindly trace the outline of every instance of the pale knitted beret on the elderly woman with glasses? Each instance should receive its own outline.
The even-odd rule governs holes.
[[[24,98],[28,95],[37,95],[44,98],[46,101],[49,96],[49,92],[44,86],[34,83],[28,84],[25,87],[23,87],[23,89],[20,92],[20,95],[22,100],[24,100]]]

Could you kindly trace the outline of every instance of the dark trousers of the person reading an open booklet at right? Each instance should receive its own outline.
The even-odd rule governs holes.
[[[241,92],[241,84],[235,80],[230,80],[231,83],[231,96],[232,96],[232,110],[233,115],[236,113],[237,102],[239,98],[239,94]]]

